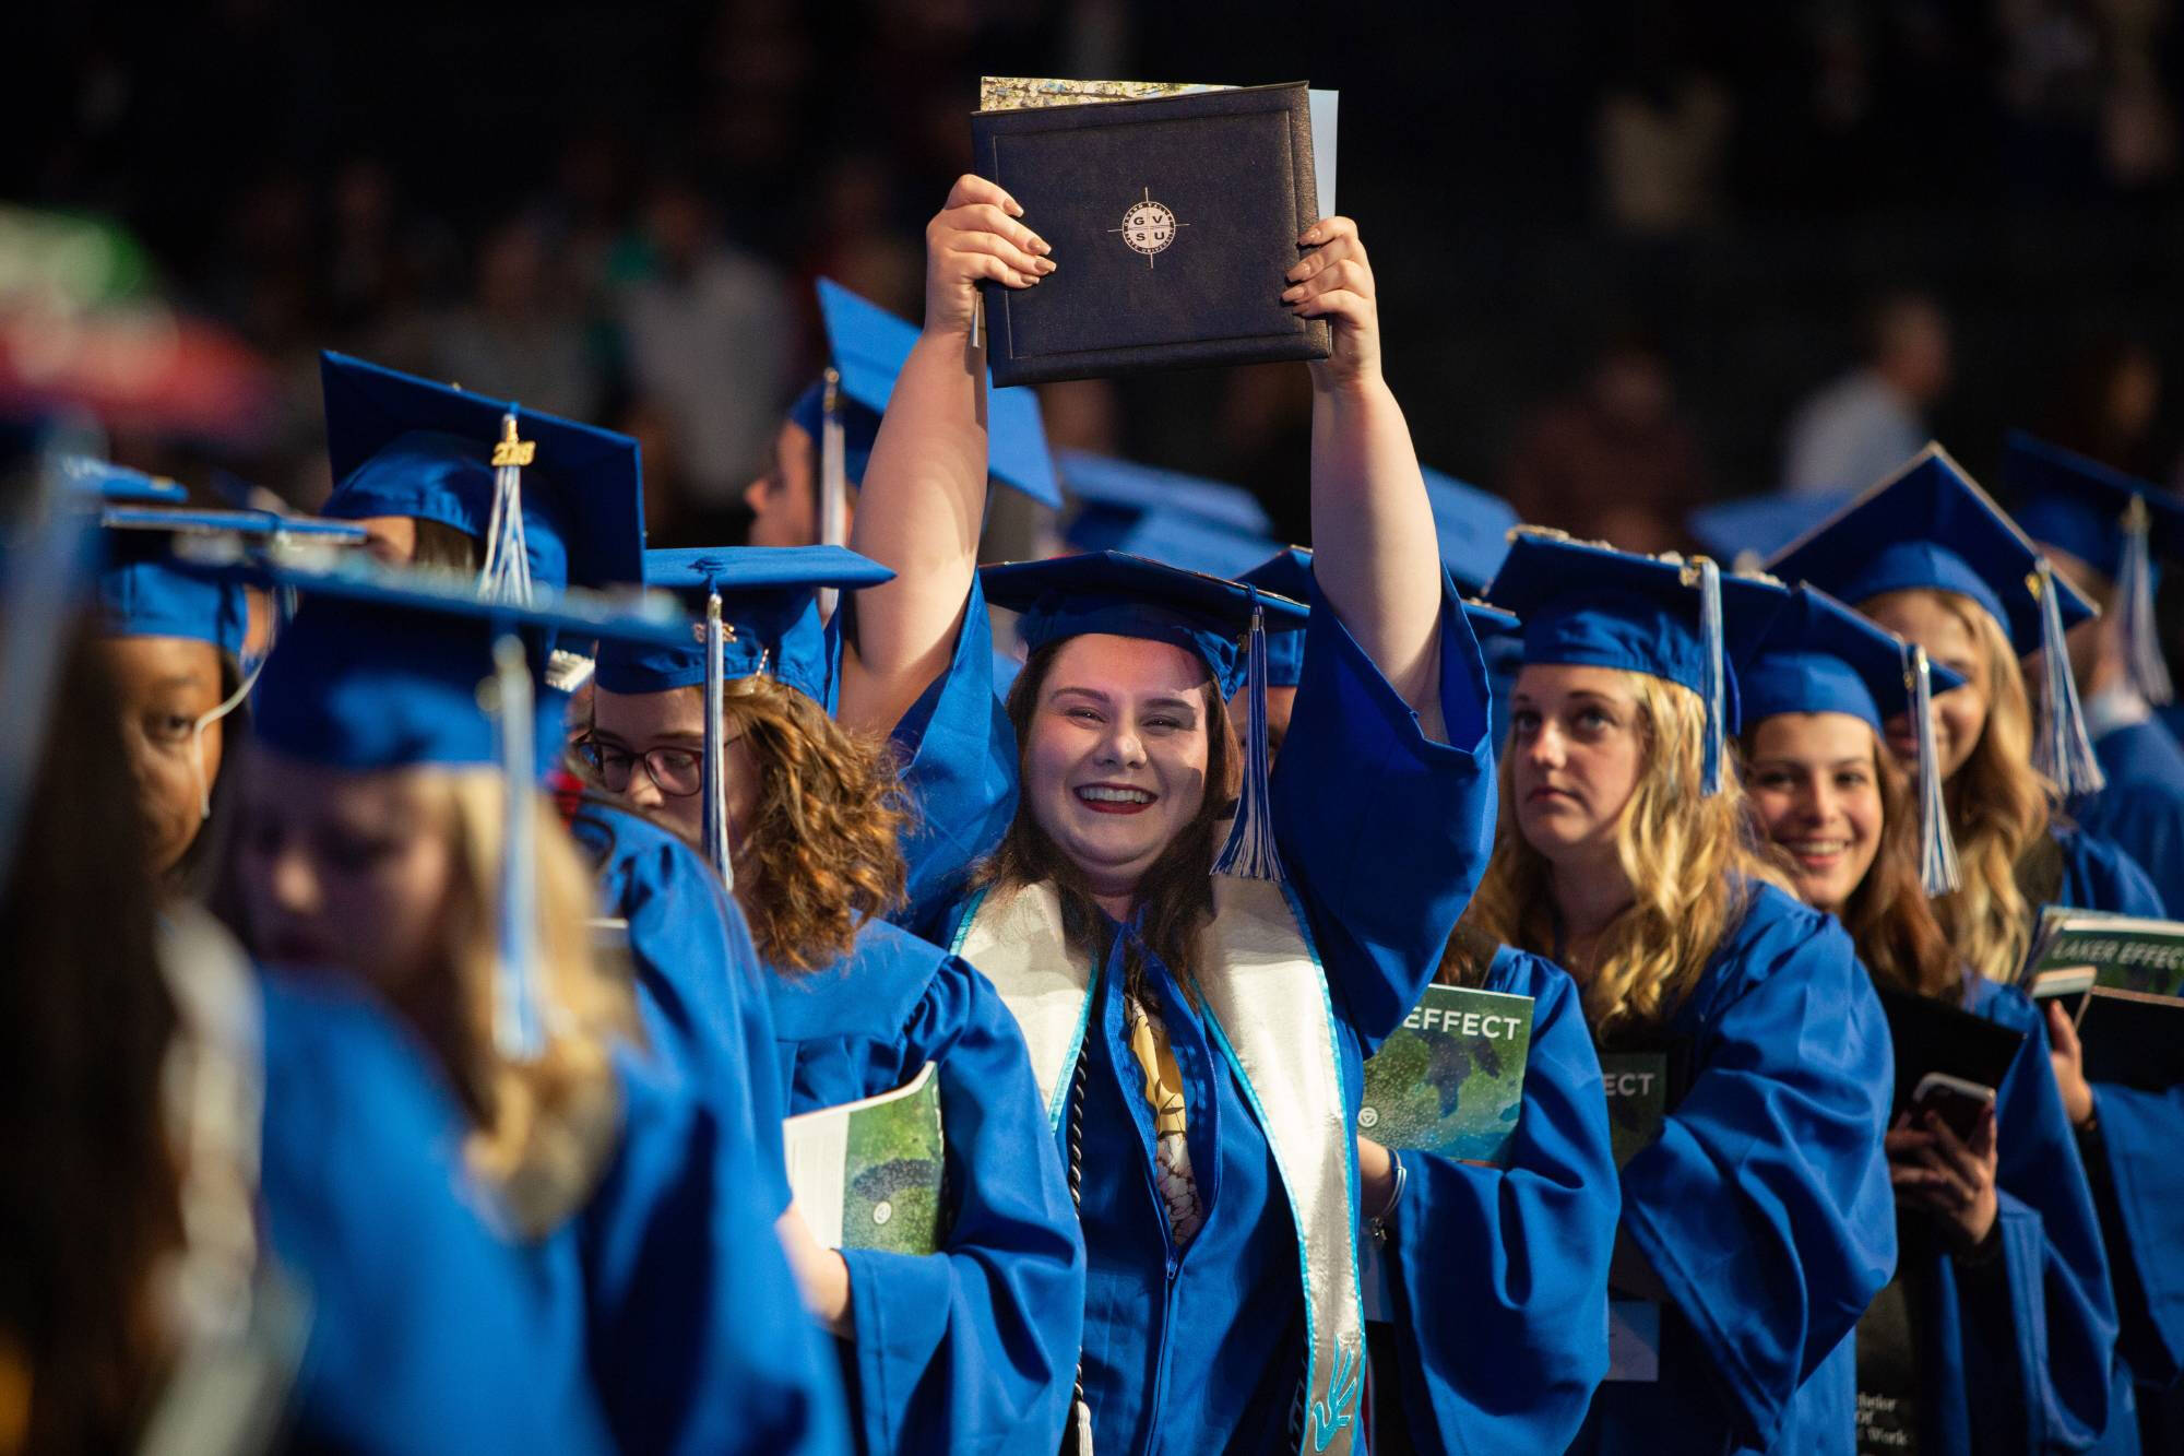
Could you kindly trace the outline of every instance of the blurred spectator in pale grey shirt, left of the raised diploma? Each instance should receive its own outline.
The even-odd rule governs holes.
[[[629,385],[673,420],[692,503],[732,505],[799,380],[788,284],[729,247],[688,181],[657,184],[640,227],[618,269]]]

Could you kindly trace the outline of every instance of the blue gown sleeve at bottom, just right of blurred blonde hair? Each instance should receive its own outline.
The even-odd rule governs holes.
[[[847,1449],[743,1128],[618,1056],[622,1139],[579,1213],[592,1377],[625,1452]]]

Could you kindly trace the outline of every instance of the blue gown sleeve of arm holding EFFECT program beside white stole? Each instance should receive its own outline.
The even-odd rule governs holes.
[[[1592,1032],[1535,955],[1503,949],[1487,990],[1533,997],[1509,1167],[1404,1152],[1389,1224],[1404,1417],[1428,1456],[1559,1452],[1607,1373],[1621,1196]]]

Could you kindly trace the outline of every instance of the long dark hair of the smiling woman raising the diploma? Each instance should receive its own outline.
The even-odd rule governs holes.
[[[1033,651],[1009,689],[1007,711],[1009,726],[1016,728],[1018,783],[1022,783],[1040,693],[1046,691],[1055,656],[1068,641],[1048,643]],[[1214,853],[1221,848],[1216,833],[1232,813],[1243,765],[1236,728],[1230,724],[1221,691],[1212,680],[1199,691],[1206,697],[1206,800],[1138,881],[1138,903],[1144,905],[1144,944],[1168,966],[1186,993],[1199,973],[1199,927],[1212,918],[1214,909],[1210,877]],[[1061,934],[1070,949],[1090,960],[1105,960],[1109,923],[1092,899],[1083,870],[1040,829],[1031,807],[1020,802],[1009,833],[981,866],[974,883],[1016,890],[1040,881],[1053,883],[1061,896]],[[1142,973],[1136,964],[1129,971],[1133,979]]]

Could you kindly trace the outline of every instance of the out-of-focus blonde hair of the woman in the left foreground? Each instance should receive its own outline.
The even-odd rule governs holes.
[[[494,1047],[494,973],[500,885],[502,778],[498,770],[424,774],[443,796],[454,859],[448,894],[448,971],[422,977],[395,1001],[439,1054],[472,1132],[465,1161],[498,1194],[513,1226],[544,1235],[574,1213],[614,1150],[620,1089],[612,1045],[638,1045],[627,966],[605,962],[585,912],[592,874],[561,829],[553,800],[537,794],[537,968],[546,1049],[511,1062]]]

